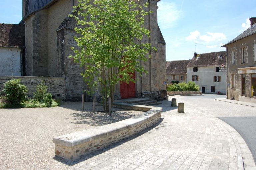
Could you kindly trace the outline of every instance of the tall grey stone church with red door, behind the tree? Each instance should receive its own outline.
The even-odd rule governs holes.
[[[150,38],[142,41],[151,43],[157,51],[151,51],[147,62],[140,61],[148,71],[142,77],[135,73],[135,84],[126,87],[117,85],[115,99],[132,97],[166,97],[165,82],[165,41],[157,24],[157,2],[160,0],[137,0],[149,2],[147,11],[153,13],[145,17],[145,27],[150,30]],[[68,58],[76,46],[73,37],[76,22],[67,17],[77,5],[77,0],[22,0],[22,22],[25,23],[26,76],[64,77],[65,100],[81,100],[81,94],[88,90],[80,75],[83,67]],[[88,97],[88,96],[87,96]]]

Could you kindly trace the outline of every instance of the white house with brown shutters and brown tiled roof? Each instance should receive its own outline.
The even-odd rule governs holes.
[[[226,51],[197,54],[187,65],[187,81],[202,93],[226,94]]]

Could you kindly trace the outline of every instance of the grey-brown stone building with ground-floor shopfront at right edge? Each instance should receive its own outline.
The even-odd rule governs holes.
[[[256,103],[256,17],[251,27],[223,45],[227,51],[227,98]]]

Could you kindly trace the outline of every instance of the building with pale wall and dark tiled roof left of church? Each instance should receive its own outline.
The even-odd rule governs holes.
[[[24,25],[0,24],[0,76],[24,74],[24,39]]]

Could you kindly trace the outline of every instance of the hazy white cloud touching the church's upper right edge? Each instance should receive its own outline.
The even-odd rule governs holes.
[[[173,2],[158,2],[157,18],[158,24],[162,29],[171,28],[181,17],[182,12],[178,10]]]

